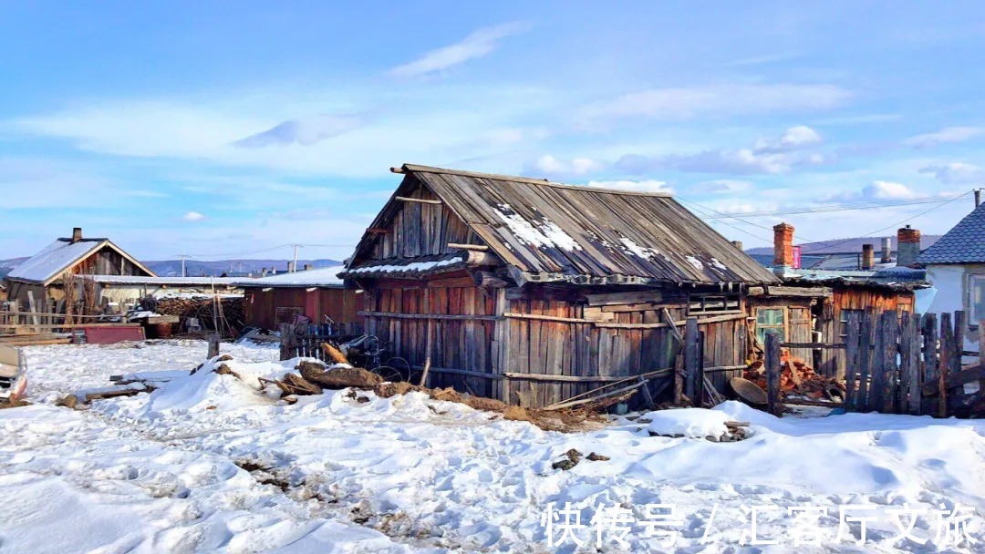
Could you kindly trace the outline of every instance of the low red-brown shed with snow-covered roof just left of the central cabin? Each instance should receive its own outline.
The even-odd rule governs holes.
[[[361,328],[362,317],[357,312],[362,309],[362,294],[360,290],[346,289],[342,279],[336,277],[343,269],[339,266],[232,279],[235,286],[243,289],[245,324],[276,331],[281,324],[296,324],[300,316],[312,324],[330,320],[346,330]]]

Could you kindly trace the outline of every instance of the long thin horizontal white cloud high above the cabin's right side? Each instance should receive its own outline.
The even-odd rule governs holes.
[[[727,117],[823,110],[844,103],[851,92],[834,85],[712,85],[651,89],[596,102],[577,114],[582,126],[604,126],[614,120],[648,117],[682,120],[699,116]]]

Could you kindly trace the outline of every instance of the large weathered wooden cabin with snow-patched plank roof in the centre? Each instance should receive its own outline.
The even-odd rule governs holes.
[[[687,318],[706,368],[750,351],[747,303],[772,273],[668,194],[421,165],[340,277],[367,333],[430,386],[547,405],[674,367]],[[718,371],[719,390],[738,372]],[[666,390],[667,371],[649,384]]]

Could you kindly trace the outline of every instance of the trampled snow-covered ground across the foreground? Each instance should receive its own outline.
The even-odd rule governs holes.
[[[112,374],[191,369],[206,344],[28,348],[37,403],[0,410],[0,552],[985,551],[982,420],[776,419],[727,402],[652,426],[750,421],[751,438],[651,437],[645,419],[562,434],[418,393],[286,405],[255,378],[296,360],[223,350],[241,380],[210,363],[71,410],[54,401]],[[553,468],[569,449],[611,460]]]

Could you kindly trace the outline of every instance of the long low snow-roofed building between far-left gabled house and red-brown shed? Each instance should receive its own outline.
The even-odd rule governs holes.
[[[97,302],[128,306],[146,296],[160,298],[173,295],[241,294],[230,277],[140,277],[92,276],[96,281]]]

